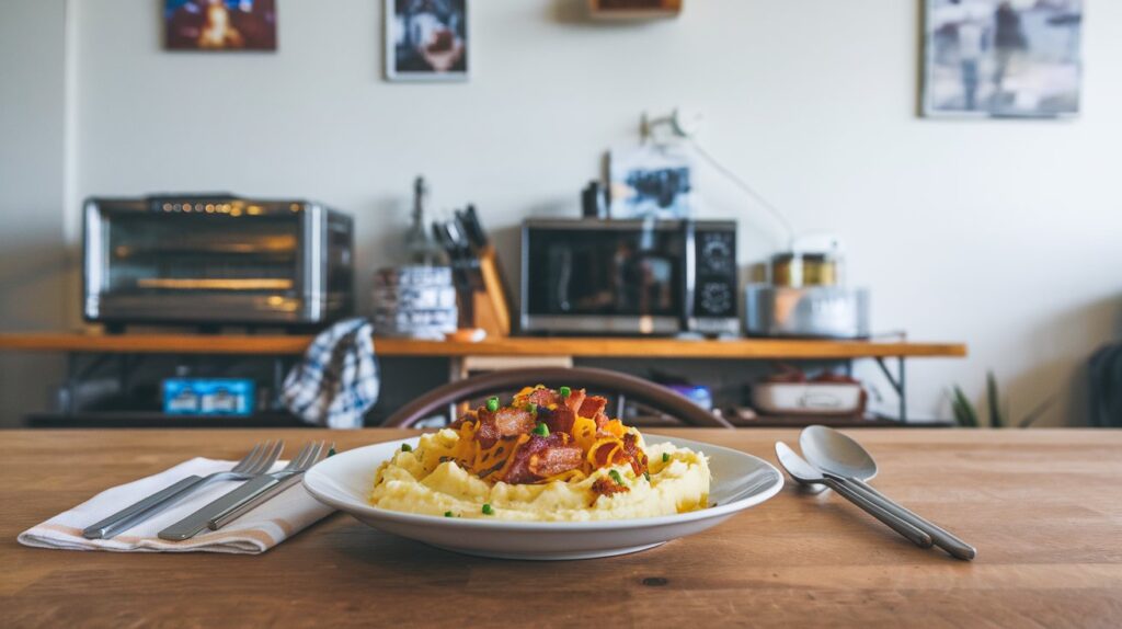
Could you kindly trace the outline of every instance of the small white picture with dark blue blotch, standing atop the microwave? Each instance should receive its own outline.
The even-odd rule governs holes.
[[[680,147],[645,144],[613,149],[608,159],[613,219],[686,219],[693,189]]]

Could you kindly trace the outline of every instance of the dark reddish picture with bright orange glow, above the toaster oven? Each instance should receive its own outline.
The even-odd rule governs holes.
[[[276,50],[276,0],[164,0],[168,50]]]

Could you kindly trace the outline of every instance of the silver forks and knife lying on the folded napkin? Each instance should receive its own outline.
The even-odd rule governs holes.
[[[245,481],[237,489],[220,496],[197,511],[159,531],[159,537],[178,542],[190,539],[208,529],[218,530],[295,484],[312,465],[331,455],[333,447],[325,442],[309,443],[288,462],[287,466],[270,473],[269,470],[273,469],[273,464],[284,451],[284,442],[258,443],[230,471],[217,472],[206,477],[187,477],[99,522],[90,525],[82,531],[82,536],[88,539],[114,537],[213,482]]]

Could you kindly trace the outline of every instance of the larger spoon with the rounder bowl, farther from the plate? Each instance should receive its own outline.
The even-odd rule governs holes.
[[[935,522],[916,515],[884,496],[865,481],[876,475],[876,461],[859,443],[826,426],[808,426],[799,436],[799,446],[807,460],[821,470],[852,481],[857,490],[898,518],[931,536],[936,546],[958,559],[973,559],[977,551]]]

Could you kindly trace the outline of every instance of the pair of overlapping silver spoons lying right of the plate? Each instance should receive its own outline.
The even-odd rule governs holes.
[[[800,484],[833,489],[922,548],[938,546],[965,561],[977,555],[954,534],[873,489],[866,481],[876,475],[876,462],[856,441],[826,426],[809,426],[799,436],[799,447],[803,456],[775,442],[780,465]]]

